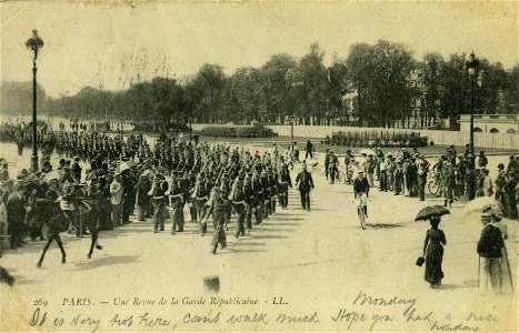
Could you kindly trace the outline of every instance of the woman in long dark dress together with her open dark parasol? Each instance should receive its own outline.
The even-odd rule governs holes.
[[[432,289],[441,285],[443,279],[443,271],[441,263],[443,261],[443,245],[447,244],[446,235],[439,224],[441,215],[449,214],[450,212],[439,205],[427,206],[422,209],[415,221],[430,221],[431,229],[426,233],[426,241],[423,243],[423,258],[426,259],[426,273],[425,280],[430,283]]]

